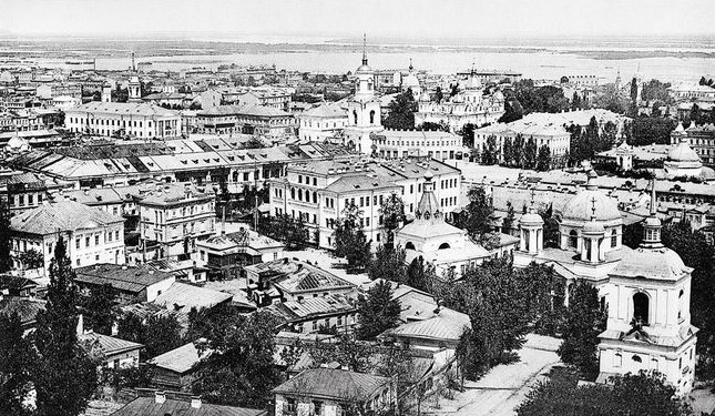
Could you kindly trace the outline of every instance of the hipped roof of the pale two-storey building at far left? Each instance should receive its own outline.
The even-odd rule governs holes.
[[[124,223],[124,219],[74,201],[40,205],[10,220],[16,232],[48,235],[58,231],[76,231]]]

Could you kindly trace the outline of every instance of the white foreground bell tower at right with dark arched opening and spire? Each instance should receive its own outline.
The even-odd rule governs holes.
[[[691,325],[690,307],[693,270],[663,246],[655,206],[653,180],[643,241],[609,274],[609,319],[599,335],[599,382],[616,374],[657,371],[684,395],[695,381],[697,328]]]

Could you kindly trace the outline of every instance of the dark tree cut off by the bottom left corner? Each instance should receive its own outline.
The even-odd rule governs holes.
[[[24,400],[32,389],[35,359],[32,343],[23,337],[20,315],[0,314],[0,414],[30,415]]]

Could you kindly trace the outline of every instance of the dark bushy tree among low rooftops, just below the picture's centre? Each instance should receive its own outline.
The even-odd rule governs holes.
[[[397,325],[400,318],[400,303],[392,298],[390,282],[380,281],[367,291],[367,296],[358,296],[359,339],[371,339]]]

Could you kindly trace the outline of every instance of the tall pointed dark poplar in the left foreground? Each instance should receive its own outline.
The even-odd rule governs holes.
[[[32,367],[38,414],[76,416],[84,412],[96,387],[96,366],[78,343],[76,286],[63,240],[58,239],[50,263],[47,305],[37,317]]]

